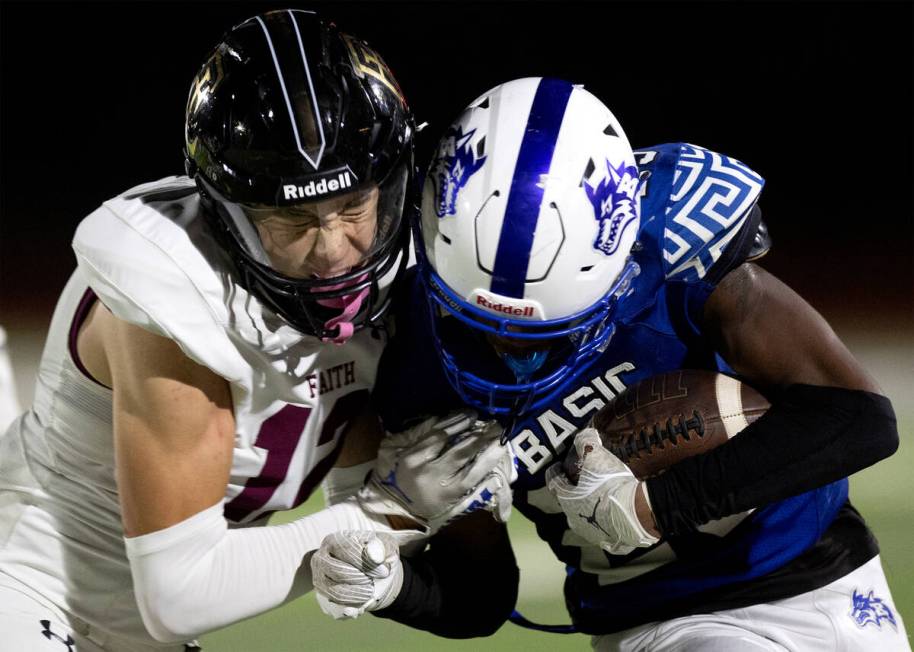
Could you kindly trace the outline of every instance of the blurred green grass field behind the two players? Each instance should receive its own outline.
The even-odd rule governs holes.
[[[914,625],[914,337],[910,329],[865,336],[854,329],[837,329],[854,354],[873,373],[892,399],[899,417],[901,447],[890,459],[851,479],[851,498],[875,531],[882,547],[883,566],[895,604],[909,630]],[[11,329],[13,363],[20,397],[31,400],[34,366],[43,333]],[[319,509],[319,495],[284,519]],[[567,622],[562,601],[563,568],[542,543],[532,525],[519,514],[509,524],[518,565],[521,597],[518,608],[530,619]],[[486,608],[486,587],[479,587],[479,609]],[[583,635],[532,632],[506,624],[493,637],[450,641],[396,623],[365,616],[333,622],[317,607],[312,595],[281,609],[203,637],[206,652],[302,652],[303,650],[524,650],[561,652],[587,650]]]

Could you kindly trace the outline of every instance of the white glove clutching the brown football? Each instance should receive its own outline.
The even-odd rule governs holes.
[[[561,463],[546,471],[546,485],[572,531],[612,555],[627,555],[657,543],[659,539],[644,529],[635,513],[639,481],[631,469],[603,446],[593,428],[579,432],[574,447],[581,460],[576,485]]]

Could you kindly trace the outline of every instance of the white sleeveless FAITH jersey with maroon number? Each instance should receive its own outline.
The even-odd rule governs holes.
[[[364,329],[345,346],[323,343],[264,307],[233,278],[186,177],[105,202],[73,247],[79,267],[54,313],[34,405],[0,437],[0,572],[89,624],[156,645],[124,551],[111,391],[76,354],[94,301],[229,382],[234,523],[265,522],[318,485],[368,402],[383,339]]]

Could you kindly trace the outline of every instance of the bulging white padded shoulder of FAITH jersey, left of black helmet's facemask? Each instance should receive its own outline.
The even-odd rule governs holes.
[[[73,249],[89,286],[115,316],[174,340],[230,382],[251,382],[252,352],[269,358],[307,337],[234,281],[186,177],[104,202],[79,224]]]

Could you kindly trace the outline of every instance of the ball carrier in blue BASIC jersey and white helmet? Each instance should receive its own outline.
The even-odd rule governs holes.
[[[479,97],[429,167],[376,404],[394,432],[461,404],[505,427],[514,505],[567,565],[574,629],[598,650],[910,649],[848,502],[847,476],[898,446],[894,413],[825,320],[751,262],[768,247],[763,183],[694,145],[633,152],[597,98],[545,78]],[[772,407],[639,481],[586,426],[681,368],[746,379]],[[556,463],[570,445],[587,482]],[[315,556],[348,563],[318,586],[341,604],[376,572],[346,541]],[[443,636],[491,633],[516,600],[506,529],[484,515],[393,570],[375,613]]]

